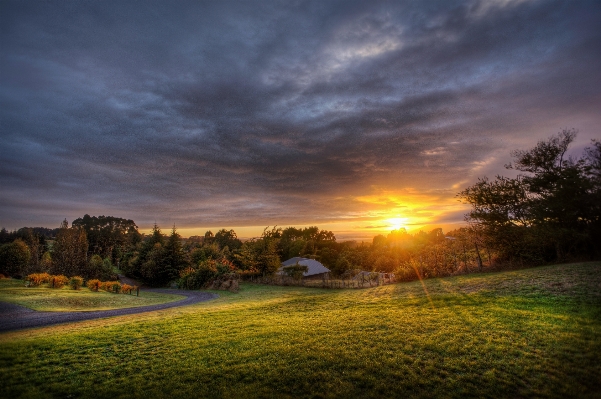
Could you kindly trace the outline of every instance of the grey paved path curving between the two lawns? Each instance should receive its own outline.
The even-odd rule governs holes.
[[[38,312],[20,305],[0,302],[0,332],[21,330],[24,328],[45,327],[54,324],[71,323],[74,321],[100,319],[103,317],[152,312],[153,310],[192,305],[194,303],[209,301],[219,297],[217,294],[202,291],[153,289],[146,289],[144,291],[184,295],[186,298],[175,302],[161,303],[159,305],[98,310],[93,312]]]

